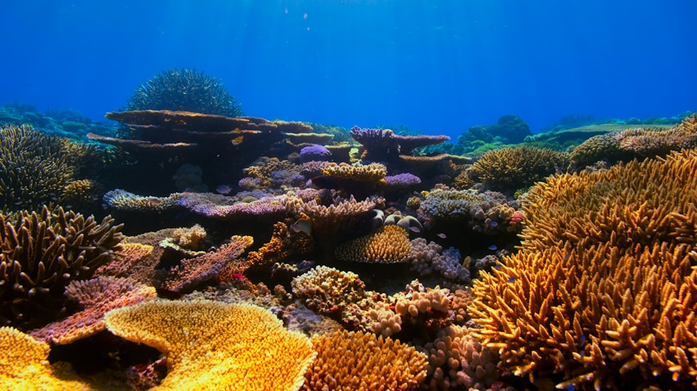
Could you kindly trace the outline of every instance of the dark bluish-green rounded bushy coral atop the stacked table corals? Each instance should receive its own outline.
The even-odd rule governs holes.
[[[125,109],[242,115],[240,105],[220,79],[189,68],[171,68],[155,74],[135,90]]]

